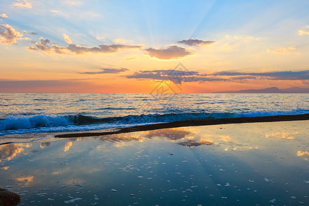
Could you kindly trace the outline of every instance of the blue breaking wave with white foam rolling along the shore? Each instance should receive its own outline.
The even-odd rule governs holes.
[[[297,108],[291,111],[250,111],[240,113],[207,113],[205,111],[194,113],[167,113],[126,115],[122,117],[94,117],[87,115],[13,115],[0,119],[0,135],[16,133],[47,133],[73,130],[95,130],[138,124],[155,124],[159,122],[176,122],[194,119],[218,119],[233,117],[262,117],[272,115],[299,115],[308,111]]]

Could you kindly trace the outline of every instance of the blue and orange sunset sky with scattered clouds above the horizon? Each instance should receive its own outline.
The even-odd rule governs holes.
[[[0,92],[309,87],[309,1],[0,1]]]

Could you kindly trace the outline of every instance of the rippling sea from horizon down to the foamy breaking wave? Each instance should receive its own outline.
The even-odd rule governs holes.
[[[1,135],[309,113],[309,94],[0,93]]]

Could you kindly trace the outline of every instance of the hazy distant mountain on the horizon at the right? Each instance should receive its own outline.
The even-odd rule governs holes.
[[[215,93],[309,93],[309,88],[290,87],[279,89],[278,87],[269,87],[265,89],[245,89],[238,91],[218,91]]]

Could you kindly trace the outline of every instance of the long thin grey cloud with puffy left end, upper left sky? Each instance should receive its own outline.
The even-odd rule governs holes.
[[[40,37],[40,42],[34,42],[34,47],[28,47],[31,50],[41,50],[43,52],[55,52],[58,54],[84,54],[84,53],[115,53],[119,49],[139,49],[141,45],[98,45],[98,47],[84,47],[76,44],[70,44],[67,47],[60,47],[56,44],[49,46],[50,41]]]

